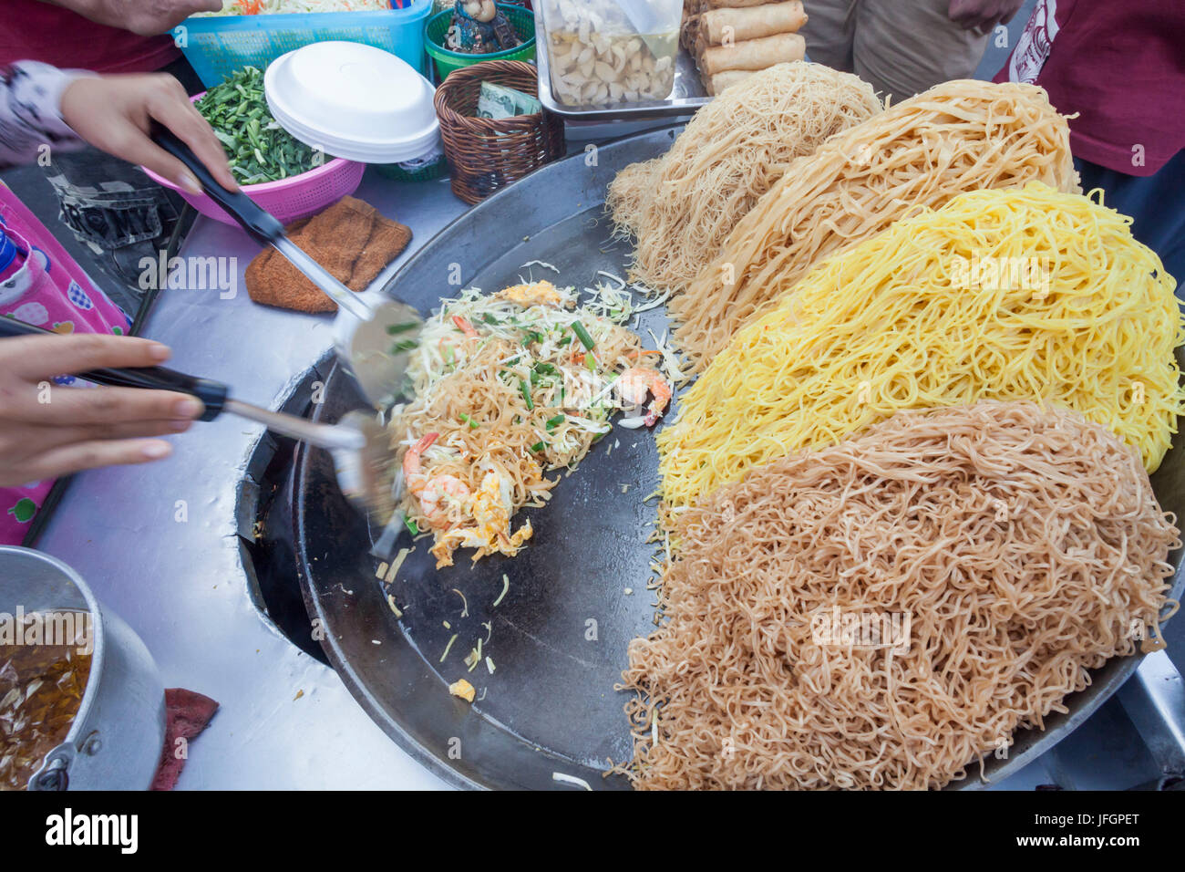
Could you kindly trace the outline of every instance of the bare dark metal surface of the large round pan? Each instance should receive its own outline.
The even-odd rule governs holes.
[[[597,204],[550,228],[531,240],[530,250],[501,257],[466,285],[493,291],[517,282],[519,275],[533,275],[582,287],[595,282],[597,269],[621,274],[628,252],[621,243],[613,243],[604,222],[595,223],[600,214]],[[565,248],[556,246],[552,236],[558,241],[590,237],[596,244]],[[527,249],[527,243],[523,248]],[[557,255],[557,250],[563,254]],[[549,252],[546,260],[562,273],[557,275],[539,266],[520,268],[538,252]],[[448,293],[448,286],[435,291]],[[399,292],[405,293],[402,287]],[[425,288],[425,292],[431,294],[434,289]],[[412,301],[422,306],[435,303],[430,298]],[[664,316],[646,312],[641,319],[643,327],[651,326],[661,335]],[[653,345],[645,329],[642,336]],[[328,418],[337,418],[356,403],[361,405],[340,373],[331,377],[325,393],[327,402],[322,415]],[[345,402],[344,395],[348,397]],[[517,737],[512,741],[519,749],[539,745],[558,758],[540,766],[539,755],[530,751],[531,765],[508,768],[504,775],[508,781],[472,776],[482,783],[550,787],[551,772],[558,770],[595,779],[601,787],[600,770],[607,766],[607,758],[621,760],[632,756],[628,725],[622,713],[626,696],[614,692],[613,686],[626,664],[629,639],[654,628],[654,594],[646,590],[654,546],[645,542],[651,533],[647,524],[653,520],[654,503],[642,503],[658,486],[653,432],[614,427],[592,447],[576,472],[570,476],[552,473],[561,476],[561,482],[551,503],[515,516],[515,528],[521,520],[531,520],[534,536],[514,559],[494,555],[470,568],[468,552],[462,550],[456,555],[455,566],[437,572],[435,560],[423,547],[430,541],[423,541],[404,562],[391,587],[404,612],[399,622],[404,635],[398,639],[389,638],[396,629],[396,619],[374,579],[377,561],[366,554],[370,540],[365,524],[351,523],[357,516],[335,492],[326,456],[322,452],[309,454],[306,460],[312,460],[310,480],[316,482],[319,495],[303,507],[306,529],[313,533],[309,541],[351,542],[350,549],[341,553],[309,554],[310,574],[350,579],[342,585],[353,588],[352,596],[340,588],[331,590],[334,606],[374,611],[364,622],[366,632],[360,644],[341,641],[344,647],[351,645],[351,666],[359,671],[374,669],[395,675],[404,674],[408,668],[404,656],[418,661],[412,664],[417,676],[415,683],[401,685],[411,692],[410,699],[399,700],[393,695],[390,702],[401,712],[406,711],[404,706],[409,702],[417,711],[427,706],[434,713],[425,718],[424,728],[442,730],[446,739],[462,737],[462,755],[468,745],[463,736],[473,728],[470,724],[476,720],[473,715],[479,715],[488,726],[494,726],[491,732]],[[314,508],[315,514],[309,511]],[[301,517],[300,510],[297,517]],[[345,524],[346,529],[316,535],[314,530],[322,523]],[[405,536],[401,545],[406,543]],[[510,590],[498,607],[492,607],[502,591],[504,574],[508,577]],[[465,603],[453,588],[465,594]],[[632,593],[626,593],[627,588],[632,588]],[[466,604],[468,617],[462,617]],[[446,628],[444,622],[450,626]],[[483,626],[487,622],[488,630]],[[440,663],[454,634],[457,638],[449,656]],[[462,661],[476,639],[485,641],[487,634],[489,642],[483,644],[482,656],[488,654],[495,671],[491,675],[482,661],[470,673]],[[382,644],[374,645],[372,638]],[[392,654],[392,648],[401,650]],[[356,657],[365,666],[356,663]],[[449,698],[446,690],[461,677],[478,688],[479,698],[485,694],[472,711],[468,704]],[[429,689],[422,692],[425,687]],[[449,726],[441,725],[437,718],[443,718]],[[487,760],[482,769],[488,765]]]

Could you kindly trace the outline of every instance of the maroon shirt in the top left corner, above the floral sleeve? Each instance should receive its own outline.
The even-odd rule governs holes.
[[[0,6],[0,65],[41,61],[95,72],[152,72],[179,56],[169,36],[140,37],[40,0]]]

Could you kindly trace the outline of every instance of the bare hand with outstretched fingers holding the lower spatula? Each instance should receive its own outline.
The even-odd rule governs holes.
[[[55,376],[101,367],[155,367],[165,345],[100,333],[0,339],[0,488],[79,470],[159,460],[200,400],[168,390],[68,388]]]

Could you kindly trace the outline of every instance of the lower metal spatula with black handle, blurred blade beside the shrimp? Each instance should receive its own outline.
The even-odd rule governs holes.
[[[47,330],[15,318],[0,318],[0,338],[6,336],[56,336]],[[113,388],[142,388],[174,390],[190,394],[205,403],[199,421],[212,421],[223,412],[264,425],[281,435],[290,437],[333,456],[333,467],[341,492],[379,526],[389,524],[403,496],[403,476],[395,467],[391,438],[373,413],[350,412],[339,424],[314,424],[303,418],[232,400],[230,388],[222,382],[186,375],[166,367],[126,369],[94,369],[79,378]],[[393,528],[402,523],[402,516]]]

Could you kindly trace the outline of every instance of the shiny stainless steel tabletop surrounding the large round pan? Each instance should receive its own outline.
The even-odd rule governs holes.
[[[414,233],[379,281],[466,209],[447,180],[399,184],[369,172],[357,196]],[[181,256],[237,259],[237,293],[162,291],[145,333],[173,348],[178,369],[275,407],[329,348],[329,319],[251,303],[243,272],[258,250],[237,228],[200,218]],[[463,269],[463,252],[457,261]],[[442,286],[441,295],[455,289]],[[174,438],[175,453],[164,463],[78,476],[39,547],[81,572],[140,634],[167,687],[220,704],[191,747],[180,789],[443,787],[380,732],[332,669],[301,653],[252,604],[235,509],[261,435],[258,426],[225,416]],[[1134,784],[1147,752],[1116,706],[1113,700],[1056,751],[994,787],[1071,785],[1087,775],[1093,787]],[[1106,753],[1091,728],[1110,737]],[[1130,736],[1120,739],[1116,731],[1125,730]]]

